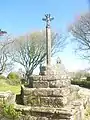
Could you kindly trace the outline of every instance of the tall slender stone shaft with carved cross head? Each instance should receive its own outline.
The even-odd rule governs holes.
[[[50,29],[50,21],[52,21],[54,18],[51,17],[50,14],[46,14],[45,18],[42,20],[46,22],[46,64],[47,66],[51,65],[51,29]]]

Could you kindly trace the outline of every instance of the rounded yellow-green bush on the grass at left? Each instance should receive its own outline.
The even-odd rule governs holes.
[[[21,83],[20,77],[17,73],[11,72],[8,74],[7,78],[7,83],[10,85],[19,85]]]

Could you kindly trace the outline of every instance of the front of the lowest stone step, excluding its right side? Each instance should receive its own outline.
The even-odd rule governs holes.
[[[28,109],[26,109],[28,108]],[[24,113],[28,113],[27,116],[29,118],[37,118],[36,120],[74,120],[71,119],[72,113],[71,109],[67,108],[51,108],[51,107],[23,107],[16,106],[17,110],[24,111]],[[31,112],[28,112],[31,111]],[[25,119],[26,120],[26,119]],[[31,119],[30,119],[31,120]]]

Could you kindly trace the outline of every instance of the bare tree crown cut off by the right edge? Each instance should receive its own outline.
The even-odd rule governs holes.
[[[69,31],[76,42],[76,52],[90,61],[90,13],[79,16],[70,26]]]

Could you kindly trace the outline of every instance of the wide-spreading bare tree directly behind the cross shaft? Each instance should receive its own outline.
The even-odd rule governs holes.
[[[62,38],[55,32],[52,34],[53,54],[64,48],[65,40],[65,37]],[[12,60],[24,67],[27,79],[33,73],[33,70],[45,60],[45,56],[45,32],[33,32],[25,36],[20,36],[12,44]]]

